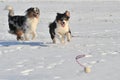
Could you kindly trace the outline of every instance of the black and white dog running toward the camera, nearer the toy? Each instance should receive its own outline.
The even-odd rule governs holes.
[[[56,38],[58,38],[61,43],[65,43],[66,37],[68,42],[71,40],[69,19],[70,12],[65,11],[64,13],[57,13],[56,19],[49,24],[49,33],[53,43],[56,43]]]

